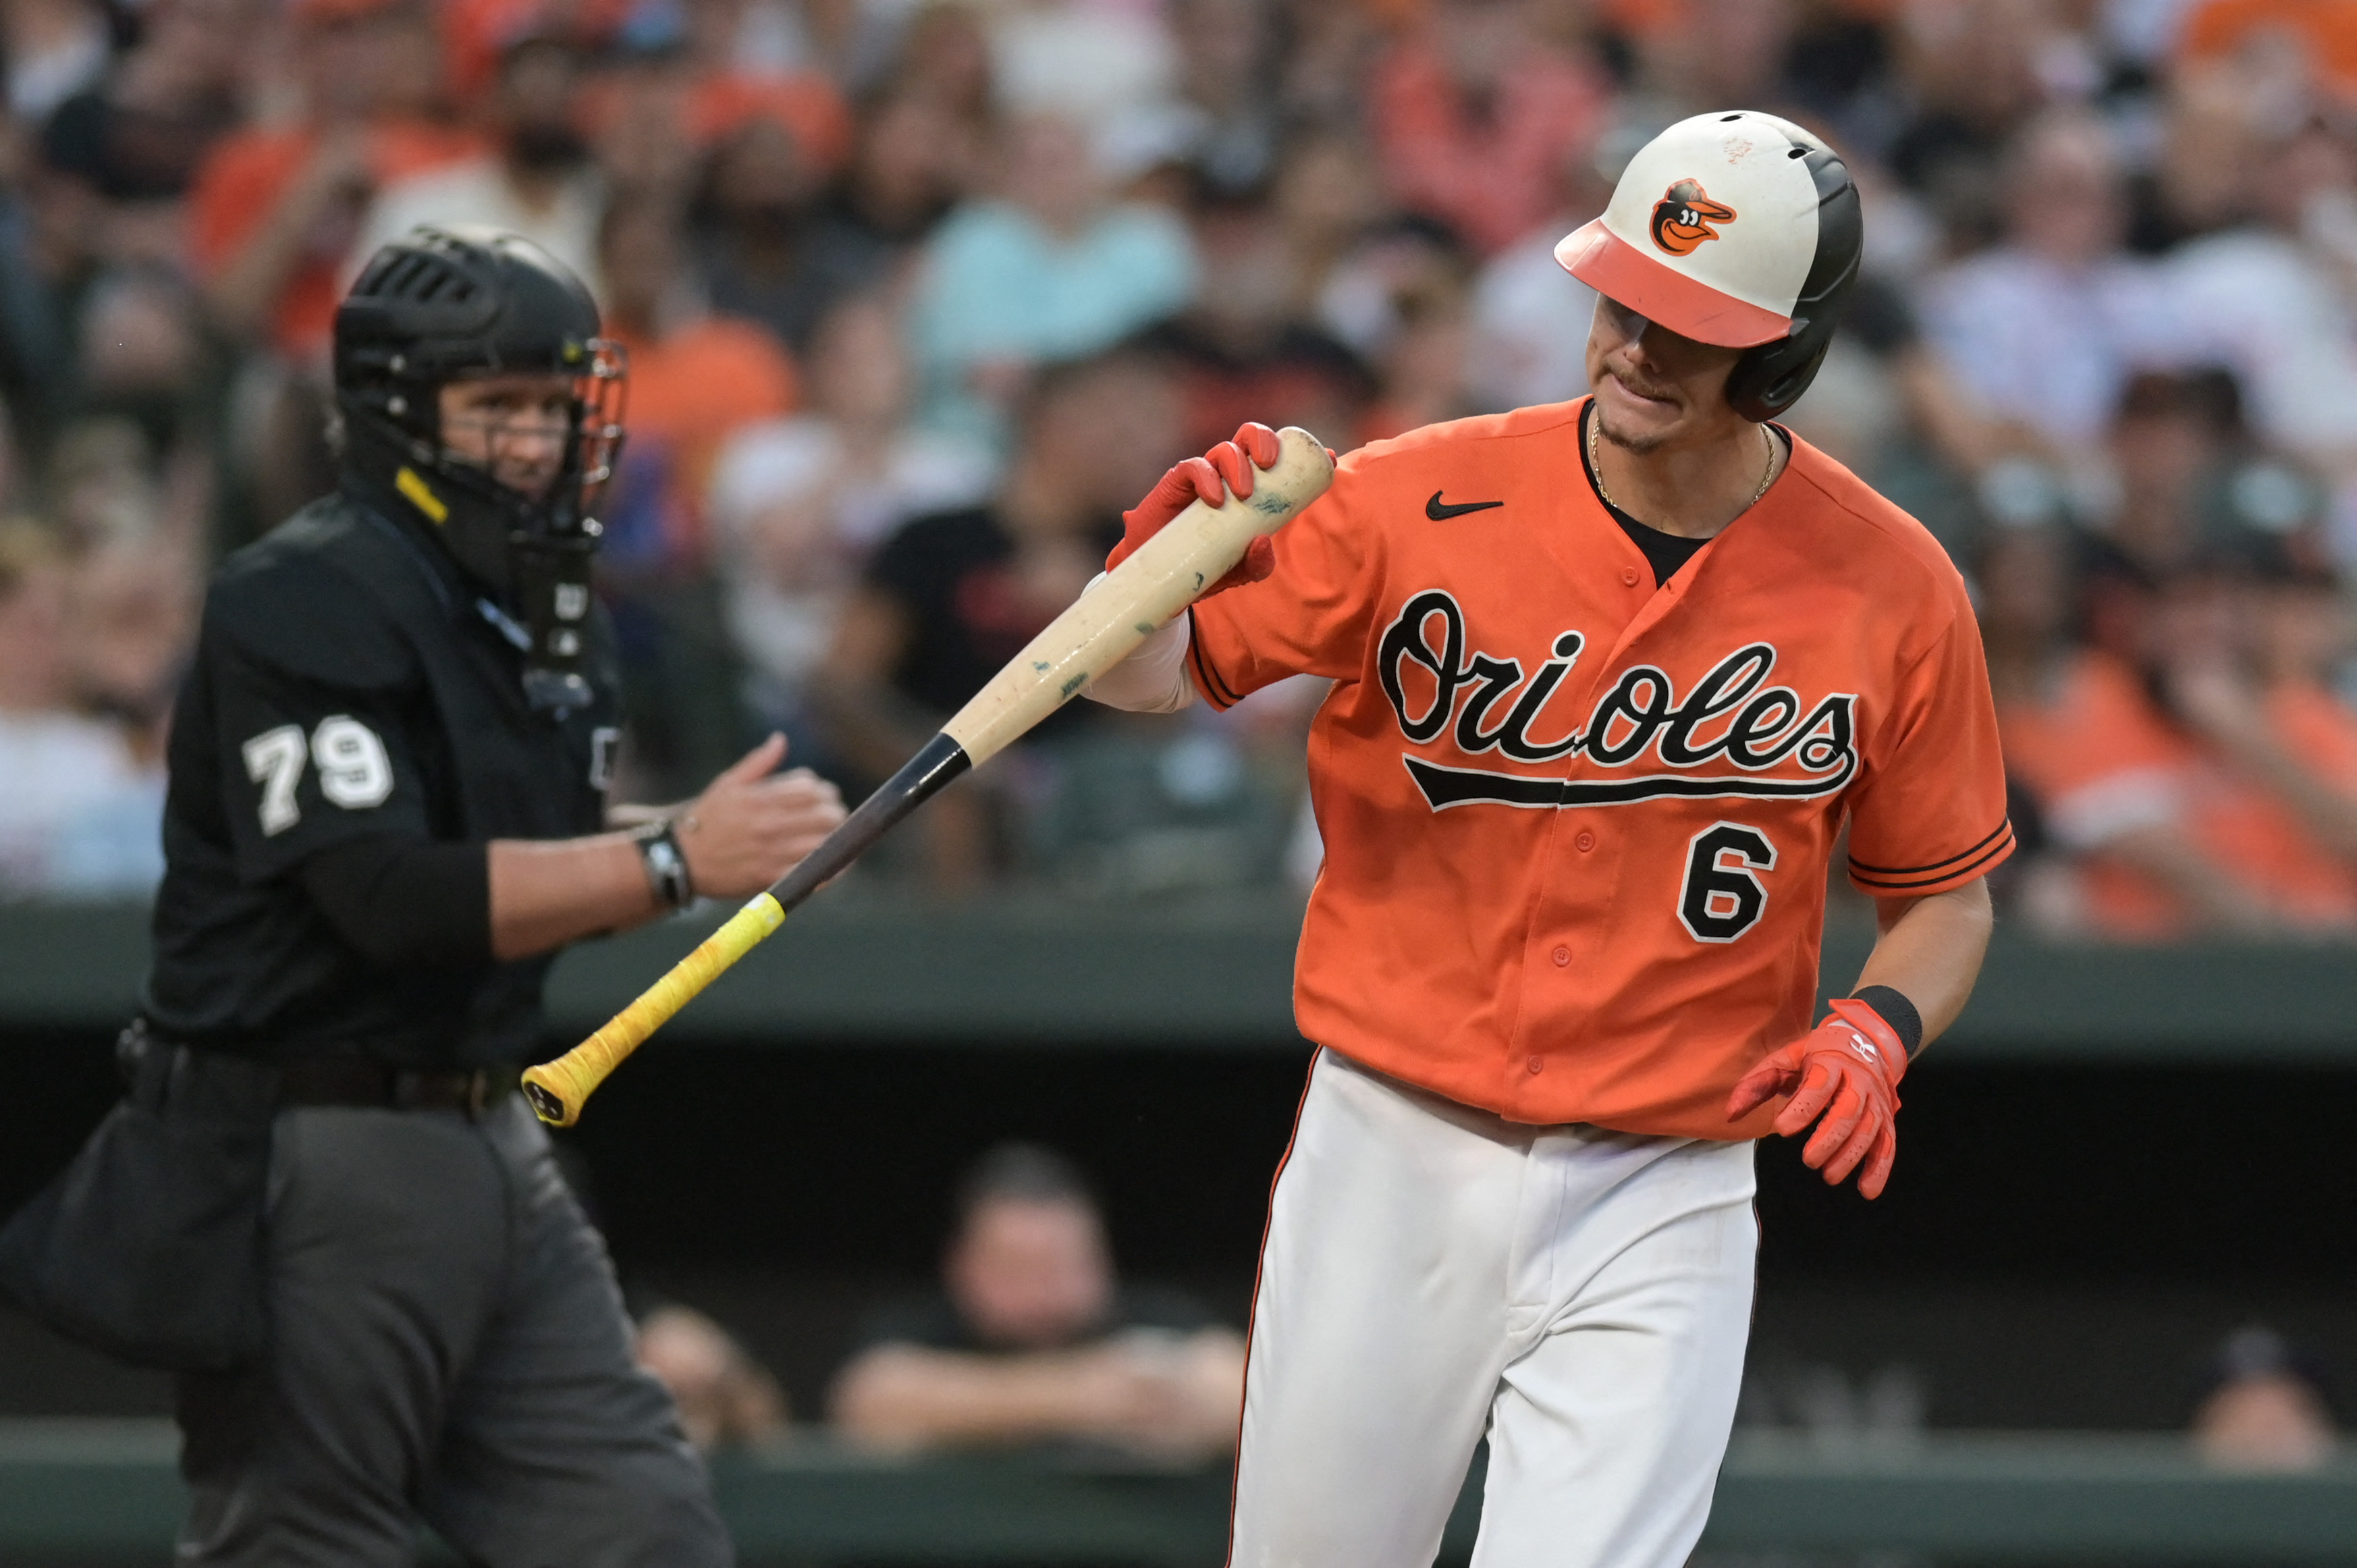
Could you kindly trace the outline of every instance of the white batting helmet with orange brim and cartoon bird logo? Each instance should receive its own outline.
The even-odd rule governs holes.
[[[1638,149],[1612,205],[1563,236],[1556,262],[1671,332],[1751,349],[1728,403],[1770,420],[1824,363],[1862,250],[1841,156],[1791,120],[1737,108],[1678,120]]]

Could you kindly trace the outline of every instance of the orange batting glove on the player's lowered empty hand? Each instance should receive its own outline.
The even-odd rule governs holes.
[[[1817,1122],[1801,1162],[1822,1170],[1829,1186],[1857,1172],[1857,1193],[1881,1198],[1900,1158],[1900,1078],[1907,1047],[1879,1012],[1857,997],[1834,1002],[1834,1016],[1744,1073],[1728,1096],[1737,1122],[1777,1094],[1791,1094],[1777,1118],[1782,1137]],[[1827,1111],[1831,1106],[1831,1111]]]

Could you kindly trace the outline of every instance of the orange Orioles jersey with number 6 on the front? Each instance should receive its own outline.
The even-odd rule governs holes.
[[[2013,849],[1963,582],[1805,441],[1666,585],[1586,479],[1579,403],[1341,460],[1268,580],[1193,611],[1216,707],[1336,681],[1310,1040],[1518,1122],[1758,1137],[1725,1101],[1810,1028],[1827,861],[1869,894]]]

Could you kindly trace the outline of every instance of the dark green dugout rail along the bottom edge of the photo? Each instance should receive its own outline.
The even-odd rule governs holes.
[[[865,1457],[799,1441],[717,1467],[747,1561],[1219,1563],[1223,1471]],[[163,1422],[0,1422],[0,1561],[163,1563],[179,1521]],[[1442,1561],[1464,1561],[1468,1485]],[[2357,1464],[2201,1469],[2176,1438],[1956,1434],[1810,1443],[1744,1436],[1706,1547],[1975,1561],[2357,1561]]]

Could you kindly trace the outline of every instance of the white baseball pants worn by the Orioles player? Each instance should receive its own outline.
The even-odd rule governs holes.
[[[1751,1144],[1527,1127],[1320,1052],[1270,1198],[1233,1568],[1678,1568],[1751,1332]]]

